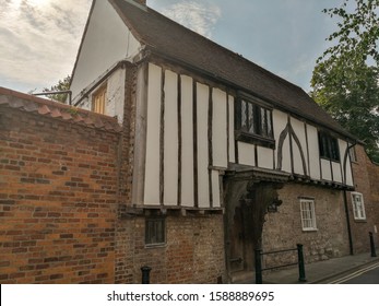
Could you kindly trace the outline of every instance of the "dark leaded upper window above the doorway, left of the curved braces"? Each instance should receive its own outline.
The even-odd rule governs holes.
[[[252,101],[241,98],[236,104],[237,140],[273,144],[272,110]]]

